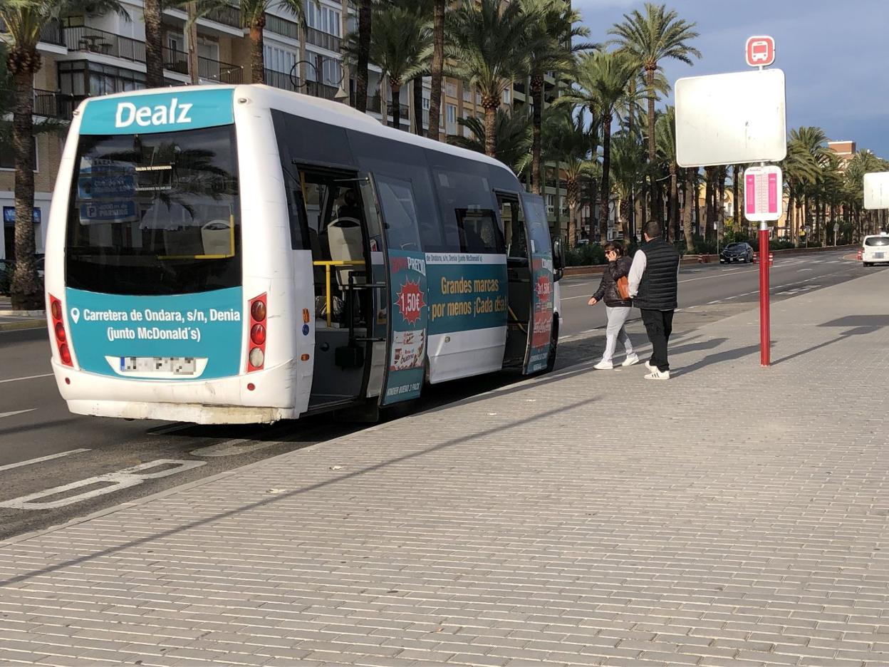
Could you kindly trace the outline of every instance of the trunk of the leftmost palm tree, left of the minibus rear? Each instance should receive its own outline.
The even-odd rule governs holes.
[[[15,48],[15,47],[13,47]],[[34,260],[34,72],[40,68],[36,49],[13,52],[25,65],[11,67],[15,84],[12,108],[12,146],[15,150],[15,272],[12,309],[39,310],[44,295]],[[11,54],[12,55],[12,54]],[[12,60],[12,59],[10,59]]]

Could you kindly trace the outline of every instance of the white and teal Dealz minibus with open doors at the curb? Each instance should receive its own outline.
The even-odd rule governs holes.
[[[491,158],[264,85],[85,100],[52,199],[76,414],[252,423],[552,368],[561,242]]]

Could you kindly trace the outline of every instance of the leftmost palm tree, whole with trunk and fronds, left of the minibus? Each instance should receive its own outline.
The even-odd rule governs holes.
[[[34,75],[41,67],[37,42],[47,23],[71,14],[116,12],[129,18],[116,0],[0,0],[0,20],[12,44],[6,66],[12,77],[12,144],[15,149],[15,273],[12,308],[40,309],[43,288],[34,260]]]

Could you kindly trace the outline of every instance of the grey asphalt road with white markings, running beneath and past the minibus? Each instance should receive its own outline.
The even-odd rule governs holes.
[[[840,253],[776,262],[773,301],[865,275]],[[589,308],[598,277],[566,279],[565,326],[558,366],[597,358],[603,306]],[[680,274],[675,335],[749,309],[757,300],[757,267],[701,266]],[[635,335],[642,336],[638,323]],[[202,427],[124,422],[69,414],[50,375],[45,329],[0,332],[0,539],[83,517],[144,494],[316,444],[366,427],[330,415],[272,426]],[[428,391],[428,409],[516,382],[493,374]],[[396,417],[392,414],[389,418]]]

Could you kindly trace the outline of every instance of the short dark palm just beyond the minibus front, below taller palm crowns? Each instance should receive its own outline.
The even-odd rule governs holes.
[[[577,212],[581,204],[581,177],[590,173],[595,164],[589,158],[589,130],[583,109],[572,113],[562,108],[550,116],[544,131],[544,153],[556,161],[565,173],[568,192],[568,247],[577,245]]]

